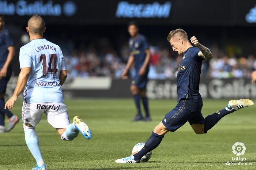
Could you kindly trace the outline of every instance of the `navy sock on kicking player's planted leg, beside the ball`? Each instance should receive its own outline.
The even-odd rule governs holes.
[[[163,135],[158,135],[155,132],[152,132],[152,135],[148,138],[146,141],[146,144],[140,150],[138,153],[134,154],[134,160],[140,160],[144,155],[146,155],[148,152],[154,150],[158,145],[161,143],[163,139]]]

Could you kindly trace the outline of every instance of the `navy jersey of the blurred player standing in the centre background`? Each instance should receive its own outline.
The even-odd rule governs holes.
[[[146,38],[138,34],[138,37],[136,39],[130,38],[129,39],[129,52],[133,54],[134,60],[135,60],[135,69],[136,72],[138,73],[140,68],[142,67],[145,58],[146,58],[146,53],[145,50],[148,49],[148,43]],[[147,66],[147,71],[148,72],[148,66]]]

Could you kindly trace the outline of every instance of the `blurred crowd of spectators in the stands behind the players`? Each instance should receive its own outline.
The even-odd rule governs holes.
[[[182,56],[173,53],[170,48],[158,48],[150,46],[151,61],[149,79],[175,79],[177,68]],[[118,55],[119,54],[119,55]],[[94,48],[86,50],[73,50],[65,55],[68,78],[77,76],[86,78],[89,76],[110,76],[120,79],[129,57],[128,46],[124,44],[117,53],[115,50],[97,52]],[[249,56],[228,56],[214,51],[211,60],[204,60],[202,65],[202,77],[210,78],[249,78],[251,72],[256,70],[256,59]],[[130,75],[134,74],[130,70]]]

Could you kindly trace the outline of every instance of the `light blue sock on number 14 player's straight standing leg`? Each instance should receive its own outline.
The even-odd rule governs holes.
[[[27,147],[29,147],[31,154],[37,161],[37,165],[42,166],[42,164],[44,164],[44,159],[39,148],[39,139],[37,133],[35,132],[35,129],[25,130],[25,140],[27,143]]]

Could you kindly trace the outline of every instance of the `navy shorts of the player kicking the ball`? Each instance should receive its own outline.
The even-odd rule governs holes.
[[[187,121],[189,124],[204,124],[204,117],[201,109],[203,102],[194,102],[189,99],[181,100],[173,110],[165,115],[162,123],[165,127],[174,132]]]

